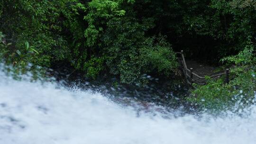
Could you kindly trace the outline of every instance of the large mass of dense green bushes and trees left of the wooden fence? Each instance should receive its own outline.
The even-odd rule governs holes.
[[[137,78],[155,70],[154,74],[168,76],[177,66],[172,47],[164,36],[145,34],[154,27],[150,18],[135,18],[132,11],[125,15],[123,9],[130,10],[133,3],[1,1],[0,31],[9,43],[1,56],[23,66],[51,67],[61,62],[90,78],[110,72],[124,83],[143,82]]]

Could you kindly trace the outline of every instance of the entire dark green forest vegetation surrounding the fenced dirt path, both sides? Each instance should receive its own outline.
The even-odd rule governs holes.
[[[69,75],[145,86],[145,74],[172,80],[174,51],[184,50],[197,61],[236,65],[229,84],[209,80],[188,101],[219,108],[243,90],[254,103],[254,0],[1,0],[0,32],[0,57],[16,72],[65,66]]]

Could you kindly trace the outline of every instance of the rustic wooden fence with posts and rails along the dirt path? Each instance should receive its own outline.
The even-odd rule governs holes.
[[[188,69],[183,51],[176,52],[176,54],[178,55],[178,61],[180,63],[180,69],[183,72],[183,75],[186,79],[186,82],[189,85],[192,85],[192,83],[196,83],[196,84],[200,84],[200,85],[206,84],[205,77],[201,77],[198,74],[196,74],[195,72],[193,72],[193,68]],[[211,75],[209,75],[209,77],[218,79],[223,75],[226,76],[225,82],[229,83],[229,69],[226,69],[225,71],[212,73]]]

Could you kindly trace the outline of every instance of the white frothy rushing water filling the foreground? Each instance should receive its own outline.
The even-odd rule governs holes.
[[[0,144],[256,144],[255,106],[247,117],[147,107],[0,73]]]

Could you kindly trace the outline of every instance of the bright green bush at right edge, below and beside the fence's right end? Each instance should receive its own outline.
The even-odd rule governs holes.
[[[234,106],[242,109],[255,104],[256,61],[253,52],[253,45],[248,43],[237,55],[223,58],[222,61],[237,65],[230,70],[233,79],[229,84],[221,79],[214,81],[208,78],[207,84],[197,86],[198,89],[193,90],[192,97],[187,100],[210,111],[230,109]]]

